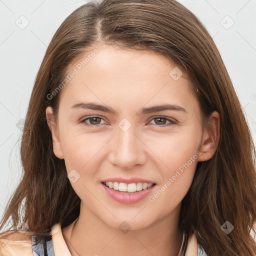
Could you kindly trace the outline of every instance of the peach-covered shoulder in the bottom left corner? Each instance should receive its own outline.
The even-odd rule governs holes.
[[[31,235],[9,230],[0,233],[0,255],[2,256],[33,256]]]

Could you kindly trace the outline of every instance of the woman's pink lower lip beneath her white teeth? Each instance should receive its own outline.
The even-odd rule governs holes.
[[[142,189],[140,191],[136,192],[121,192],[119,190],[115,190],[113,188],[109,188],[105,184],[101,183],[101,185],[104,187],[106,193],[115,201],[125,204],[131,204],[138,202],[142,199],[144,199],[155,187],[155,185],[150,186],[149,188]]]

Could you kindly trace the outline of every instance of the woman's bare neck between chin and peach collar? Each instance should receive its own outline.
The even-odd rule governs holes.
[[[133,256],[134,253],[177,256],[183,238],[178,227],[178,213],[179,207],[151,225],[121,232],[102,222],[81,204],[79,218],[73,222],[68,235],[63,230],[63,236],[72,256]]]

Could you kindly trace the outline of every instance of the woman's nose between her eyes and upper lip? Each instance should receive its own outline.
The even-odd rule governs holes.
[[[119,127],[116,130],[110,142],[109,162],[121,169],[131,169],[138,164],[143,165],[146,161],[146,146],[142,138],[136,134],[133,125],[126,131]]]

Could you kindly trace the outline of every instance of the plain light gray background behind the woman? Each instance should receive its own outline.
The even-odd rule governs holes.
[[[19,126],[46,47],[65,17],[86,2],[0,0],[0,216],[21,176]],[[255,142],[256,0],[179,2],[203,22],[213,37]]]

